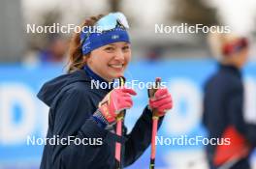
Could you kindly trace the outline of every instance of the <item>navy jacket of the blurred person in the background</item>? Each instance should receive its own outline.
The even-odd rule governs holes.
[[[243,85],[241,73],[232,66],[219,66],[205,86],[203,123],[208,129],[209,138],[221,138],[228,126],[234,126],[255,144],[255,126],[246,124],[243,120]],[[208,145],[208,160],[211,164],[216,146]],[[240,166],[238,166],[240,165]],[[248,168],[247,159],[242,159],[234,168]]]

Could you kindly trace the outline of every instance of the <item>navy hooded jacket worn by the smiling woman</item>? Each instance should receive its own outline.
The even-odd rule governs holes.
[[[122,165],[135,162],[151,140],[151,111],[145,107],[131,133],[123,137],[99,127],[91,118],[110,90],[91,89],[84,70],[64,74],[47,82],[38,94],[49,107],[48,135],[51,138],[102,138],[102,145],[49,145],[44,148],[41,169],[113,169],[115,142],[122,143]],[[134,112],[136,113],[136,112]],[[159,126],[163,118],[160,119]],[[149,159],[148,159],[149,160]]]

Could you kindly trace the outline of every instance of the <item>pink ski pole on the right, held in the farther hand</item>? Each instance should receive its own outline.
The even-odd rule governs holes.
[[[161,78],[157,77],[155,79],[155,86],[153,87],[153,89],[148,90],[149,98],[154,97],[155,92],[160,87],[160,83],[161,83]],[[155,137],[157,135],[158,119],[159,117],[157,115],[157,110],[152,109],[152,136],[151,136],[151,155],[150,155],[149,169],[154,169],[154,165],[155,165],[155,154],[156,154]]]

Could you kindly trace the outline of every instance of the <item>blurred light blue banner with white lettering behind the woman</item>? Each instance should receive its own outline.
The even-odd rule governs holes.
[[[160,76],[172,93],[175,107],[165,118],[158,136],[206,136],[207,132],[201,125],[203,86],[216,68],[217,65],[211,60],[195,59],[132,63],[125,76],[128,82],[136,80],[134,87],[138,95],[134,97],[134,107],[127,111],[126,126],[129,130],[132,129],[147,104],[146,89],[141,89],[139,82],[153,82],[155,77]],[[246,79],[249,79],[250,84],[256,87],[255,64],[249,64],[243,71],[245,84]],[[36,98],[36,94],[46,81],[63,72],[64,69],[60,65],[0,66],[0,168],[39,167],[43,146],[28,145],[27,137],[46,136],[48,107]],[[255,91],[252,91],[251,95],[256,96],[253,92]],[[255,100],[254,97],[251,101]],[[249,111],[256,113],[256,110]],[[203,152],[203,149],[201,144],[158,145],[156,165],[162,168],[177,168],[176,158],[172,159],[172,155]],[[148,163],[149,149],[129,168],[148,168]]]

